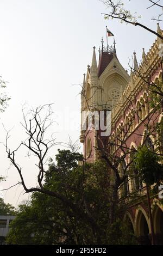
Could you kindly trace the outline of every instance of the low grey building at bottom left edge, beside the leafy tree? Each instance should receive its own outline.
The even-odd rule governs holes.
[[[9,224],[15,216],[0,215],[0,245],[5,245],[5,237],[9,232]]]

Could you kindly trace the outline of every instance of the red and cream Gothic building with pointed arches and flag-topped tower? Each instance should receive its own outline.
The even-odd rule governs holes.
[[[159,34],[163,34],[158,24]],[[133,55],[133,69],[129,75],[123,68],[116,55],[114,47],[104,46],[99,49],[99,62],[97,65],[95,47],[91,66],[87,66],[84,74],[83,89],[81,93],[81,112],[111,111],[110,136],[101,137],[105,150],[112,155],[123,155],[122,146],[125,145],[130,153],[124,164],[131,160],[131,150],[139,145],[147,144],[156,152],[162,153],[163,140],[158,139],[156,124],[162,121],[162,105],[155,111],[150,105],[148,88],[150,84],[162,82],[162,57],[159,55],[157,38],[148,53],[142,52],[142,62],[137,63],[136,53]],[[148,78],[148,80],[147,80]],[[87,122],[87,115],[82,117],[82,124]],[[81,128],[80,142],[84,145],[86,161],[93,162],[99,157],[99,130],[95,129],[95,119],[87,130]],[[147,127],[154,127],[152,135],[148,136]],[[148,125],[148,126],[147,126]],[[151,129],[151,128],[150,128]],[[123,168],[119,168],[123,175]],[[135,170],[134,170],[135,172]],[[135,176],[136,177],[136,174]],[[146,185],[139,178],[128,176],[123,186],[118,190],[119,198],[130,201],[131,194],[137,193],[140,200],[130,202],[124,218],[131,224],[134,234],[140,238],[142,244],[151,243],[151,223],[146,198]],[[152,216],[155,240],[157,244],[163,244],[163,205],[160,204],[158,195],[151,198]]]

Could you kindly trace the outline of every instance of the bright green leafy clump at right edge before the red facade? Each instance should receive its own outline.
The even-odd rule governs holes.
[[[146,145],[137,150],[134,161],[143,182],[153,185],[163,179],[163,168],[162,164],[159,163],[160,160],[160,156],[150,151]]]

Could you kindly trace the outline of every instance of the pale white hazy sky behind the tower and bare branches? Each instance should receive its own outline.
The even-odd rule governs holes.
[[[143,16],[141,22],[156,29],[156,23],[149,18],[157,8],[146,9],[148,0],[124,1],[129,9]],[[135,4],[136,3],[136,4]],[[55,125],[58,142],[67,142],[68,135],[76,141],[80,135],[80,87],[83,74],[91,65],[92,47],[105,40],[105,26],[115,34],[117,57],[124,68],[133,51],[140,61],[142,47],[146,52],[155,36],[142,28],[122,25],[115,20],[105,21],[101,13],[105,7],[99,0],[0,0],[0,75],[8,81],[7,93],[11,96],[9,107],[0,114],[0,141],[5,140],[2,123],[11,131],[10,147],[15,149],[24,138],[21,104],[39,106],[54,102]],[[108,39],[112,44],[112,38]],[[66,119],[67,118],[67,119]],[[62,125],[69,122],[68,126]],[[72,125],[74,124],[74,125]],[[73,126],[73,127],[71,127]],[[59,146],[49,153],[54,156]],[[82,149],[81,149],[82,150]],[[7,154],[0,144],[0,174],[7,177],[0,184],[7,188],[17,183],[17,171],[11,167]],[[23,167],[27,185],[36,184],[35,161],[28,160],[26,150],[17,153],[17,162]],[[6,203],[17,205],[28,198],[21,193],[22,187],[12,188],[3,194]]]

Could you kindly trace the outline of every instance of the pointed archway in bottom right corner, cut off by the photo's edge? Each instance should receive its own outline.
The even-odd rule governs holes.
[[[153,222],[156,245],[163,245],[163,211],[158,205],[153,211]]]

